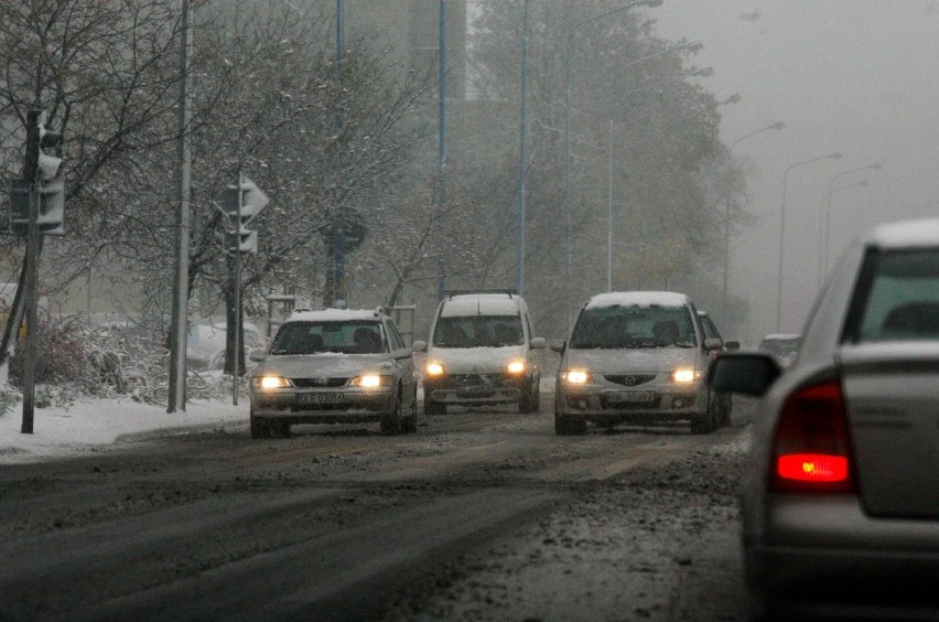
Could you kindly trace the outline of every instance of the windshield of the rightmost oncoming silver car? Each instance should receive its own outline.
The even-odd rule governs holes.
[[[571,347],[694,347],[691,314],[684,307],[609,305],[581,312]]]

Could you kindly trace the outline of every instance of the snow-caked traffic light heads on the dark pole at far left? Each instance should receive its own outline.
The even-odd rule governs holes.
[[[24,179],[11,180],[10,184],[10,232],[26,235],[30,223],[30,194],[35,187],[39,193],[39,232],[45,235],[63,235],[65,227],[65,184],[60,179],[62,168],[62,132],[45,127],[45,112],[30,110],[26,127],[26,162]],[[54,150],[55,156],[45,153]]]

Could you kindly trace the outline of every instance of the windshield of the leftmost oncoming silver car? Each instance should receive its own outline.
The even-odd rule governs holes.
[[[280,328],[271,354],[376,354],[382,352],[378,322],[290,322]]]

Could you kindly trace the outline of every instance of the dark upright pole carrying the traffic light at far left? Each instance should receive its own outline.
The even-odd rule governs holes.
[[[40,153],[40,118],[41,110],[30,110],[26,117],[26,165],[25,179],[30,183],[29,226],[26,228],[26,261],[24,281],[24,302],[26,309],[26,348],[23,361],[23,421],[20,432],[33,433],[33,415],[35,412],[35,377],[36,356],[39,347],[36,333],[39,312],[36,310],[36,281],[39,280],[39,153]]]

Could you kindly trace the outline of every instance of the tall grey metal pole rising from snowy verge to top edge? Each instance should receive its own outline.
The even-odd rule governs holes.
[[[180,115],[179,159],[180,202],[176,212],[176,257],[174,262],[173,313],[170,328],[170,383],[166,412],[186,409],[186,332],[190,289],[190,181],[192,156],[190,151],[190,55],[193,37],[190,29],[190,3],[182,2],[182,31],[180,33]]]

